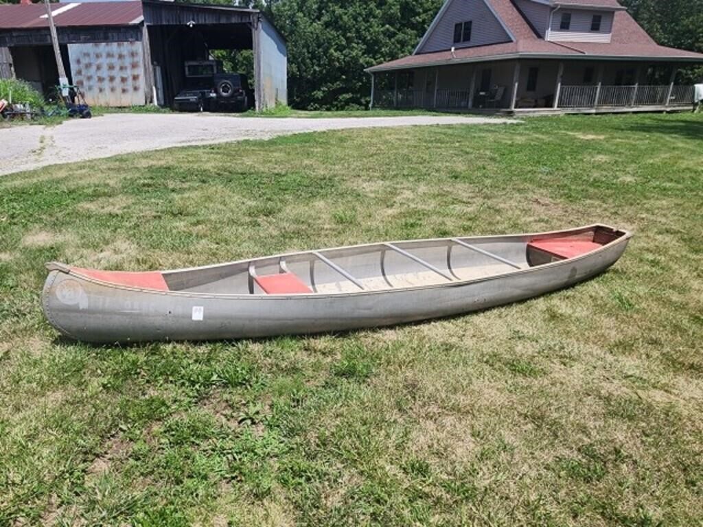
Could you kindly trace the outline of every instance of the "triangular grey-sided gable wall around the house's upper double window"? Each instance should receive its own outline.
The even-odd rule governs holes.
[[[454,44],[454,25],[467,20],[473,21],[471,41]],[[452,46],[469,48],[500,42],[510,42],[510,36],[503,29],[501,22],[486,6],[484,0],[451,0],[451,4],[444,11],[432,34],[418,49],[418,53],[442,51],[451,49]]]

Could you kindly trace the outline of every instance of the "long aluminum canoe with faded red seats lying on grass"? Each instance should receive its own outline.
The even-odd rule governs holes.
[[[49,323],[96,343],[313,334],[410,323],[536,297],[612,266],[631,233],[382,242],[128,273],[48,263]]]

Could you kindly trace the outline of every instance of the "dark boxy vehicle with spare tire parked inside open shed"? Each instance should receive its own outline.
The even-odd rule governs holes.
[[[223,72],[219,60],[186,62],[186,88],[174,98],[175,110],[245,112],[253,105],[254,92],[245,74]]]

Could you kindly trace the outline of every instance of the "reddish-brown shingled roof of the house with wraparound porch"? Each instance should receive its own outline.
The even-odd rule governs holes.
[[[481,62],[496,58],[541,56],[542,58],[662,58],[703,62],[702,53],[659,46],[625,10],[615,11],[610,43],[554,42],[536,34],[511,0],[486,0],[503,21],[515,41],[489,46],[458,48],[451,51],[418,53],[398,60],[375,65],[367,71],[401,70],[463,62]],[[553,0],[553,4],[579,4],[581,6],[621,7],[617,0]]]

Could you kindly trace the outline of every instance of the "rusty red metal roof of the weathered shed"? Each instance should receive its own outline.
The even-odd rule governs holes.
[[[51,4],[57,27],[133,25],[143,20],[141,1]],[[0,29],[49,27],[44,4],[0,5]]]

